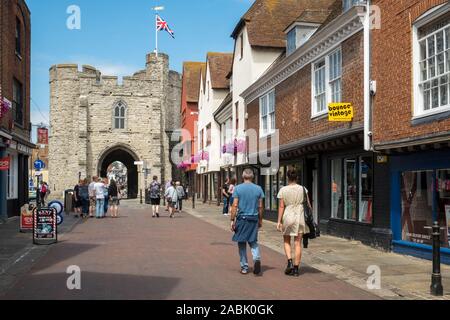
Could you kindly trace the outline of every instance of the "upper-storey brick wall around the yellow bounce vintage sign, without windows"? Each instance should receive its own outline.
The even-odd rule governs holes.
[[[343,42],[341,48],[342,97],[344,102],[353,104],[354,121],[331,123],[328,116],[311,119],[311,65],[308,65],[275,88],[276,126],[280,129],[280,145],[362,125],[364,115],[362,33]],[[248,128],[259,131],[259,100],[250,103],[247,110]]]

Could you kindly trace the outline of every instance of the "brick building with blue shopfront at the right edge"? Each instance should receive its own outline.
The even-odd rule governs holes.
[[[450,4],[447,0],[373,1],[374,149],[388,161],[383,203],[393,249],[431,257],[434,221],[446,227],[450,262]]]

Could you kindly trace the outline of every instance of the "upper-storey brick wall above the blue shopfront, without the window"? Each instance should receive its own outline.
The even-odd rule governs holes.
[[[375,144],[417,138],[450,129],[450,118],[412,125],[412,23],[447,0],[374,1],[381,9],[381,29],[372,32]]]

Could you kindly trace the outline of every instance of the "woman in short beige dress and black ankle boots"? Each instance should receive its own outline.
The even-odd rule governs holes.
[[[283,233],[284,250],[288,258],[288,266],[285,274],[298,277],[300,275],[299,266],[302,259],[303,235],[309,233],[309,228],[305,222],[303,204],[306,202],[311,207],[311,203],[306,188],[297,184],[297,173],[295,171],[288,171],[287,177],[289,185],[283,187],[278,194],[280,207],[277,229]],[[292,237],[295,240],[295,263],[292,260]]]

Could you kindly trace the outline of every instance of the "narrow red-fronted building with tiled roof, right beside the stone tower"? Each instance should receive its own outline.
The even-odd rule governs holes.
[[[185,170],[185,184],[193,191],[197,164],[192,157],[197,148],[198,100],[200,94],[200,80],[206,72],[204,62],[185,62],[183,64],[183,79],[181,87],[181,128],[183,129],[183,169]]]

